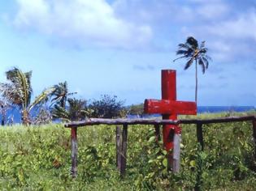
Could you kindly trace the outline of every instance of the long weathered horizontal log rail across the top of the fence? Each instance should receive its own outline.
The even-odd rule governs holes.
[[[256,120],[254,116],[244,117],[220,117],[215,119],[189,119],[189,120],[161,120],[161,119],[102,119],[91,118],[87,121],[74,121],[65,124],[65,127],[82,127],[86,125],[179,125],[179,124],[210,124],[210,123],[227,123],[237,121],[253,121]]]

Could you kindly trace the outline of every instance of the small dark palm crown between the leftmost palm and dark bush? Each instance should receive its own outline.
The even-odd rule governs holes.
[[[54,86],[54,98],[51,100],[53,104],[57,103],[60,107],[66,109],[67,97],[76,94],[76,92],[68,93],[67,82],[59,83]]]

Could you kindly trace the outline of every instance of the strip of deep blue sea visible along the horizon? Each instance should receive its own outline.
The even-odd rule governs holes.
[[[197,107],[197,113],[203,113],[203,112],[248,112],[248,111],[256,111],[256,108],[254,106],[198,106]],[[17,108],[13,108],[9,111],[7,111],[7,117],[6,119],[10,119],[10,117],[13,117],[13,120],[15,123],[20,123],[21,117],[20,117],[20,111]],[[143,117],[159,117],[160,115],[145,115]],[[128,118],[137,118],[137,115],[128,115]],[[0,119],[2,119],[2,116],[0,115]]]

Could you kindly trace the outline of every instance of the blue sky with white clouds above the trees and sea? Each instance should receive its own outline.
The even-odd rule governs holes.
[[[187,36],[206,40],[199,105],[256,106],[256,2],[231,0],[2,0],[0,81],[33,70],[37,96],[67,80],[80,98],[126,104],[160,98],[162,69],[177,70],[179,100],[194,100],[194,67],[173,63]]]

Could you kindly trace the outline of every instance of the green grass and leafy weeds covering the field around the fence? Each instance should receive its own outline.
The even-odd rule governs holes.
[[[203,114],[199,118],[248,113]],[[250,112],[249,114],[255,114]],[[191,118],[191,117],[187,117]],[[78,129],[78,177],[70,176],[70,129],[63,125],[0,128],[1,190],[255,190],[251,122],[203,126],[205,151],[197,149],[196,126],[182,125],[181,171],[167,172],[154,128],[128,128],[124,180],[115,167],[115,126]]]

